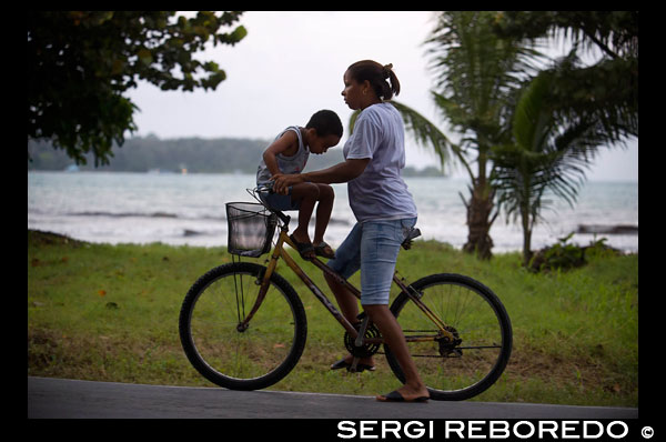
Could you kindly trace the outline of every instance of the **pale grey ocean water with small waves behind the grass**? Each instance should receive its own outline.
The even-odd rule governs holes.
[[[468,182],[446,178],[405,178],[418,209],[417,227],[426,240],[460,249],[467,239],[466,212],[458,193],[468,198]],[[225,203],[253,201],[246,189],[254,174],[175,174],[123,172],[28,172],[28,229],[103,243],[152,243],[194,247],[226,244]],[[325,240],[336,248],[355,223],[346,184],[333,184],[335,204]],[[532,249],[559,238],[628,225],[619,233],[575,233],[572,242],[606,244],[638,252],[638,183],[586,182],[575,207],[553,199],[532,235]],[[292,212],[295,222],[295,212]],[[311,235],[314,224],[311,222]],[[633,229],[635,228],[635,229]],[[491,229],[493,252],[519,251],[523,232],[502,213]]]

